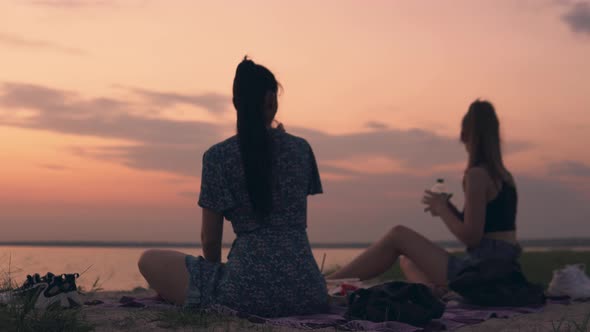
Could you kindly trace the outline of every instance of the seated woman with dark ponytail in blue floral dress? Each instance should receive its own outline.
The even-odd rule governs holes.
[[[203,256],[148,250],[139,261],[164,299],[265,317],[326,309],[325,280],[306,231],[307,196],[321,193],[322,185],[309,144],[282,125],[272,128],[279,88],[266,67],[247,58],[238,65],[238,133],[203,156]],[[224,218],[236,234],[227,263],[221,263]]]

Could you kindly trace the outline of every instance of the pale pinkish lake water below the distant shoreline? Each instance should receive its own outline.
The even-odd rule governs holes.
[[[560,250],[584,250],[586,246],[559,248]],[[41,246],[0,246],[0,277],[8,276],[19,285],[27,274],[82,273],[78,285],[88,290],[98,280],[104,290],[131,290],[147,287],[139,271],[137,260],[145,248],[121,247],[41,247]],[[200,255],[200,248],[181,247],[173,250]],[[343,265],[356,257],[362,248],[316,248],[313,250],[318,266],[324,255],[324,269]],[[546,251],[550,247],[529,247],[526,250]],[[223,249],[223,257],[229,248]]]

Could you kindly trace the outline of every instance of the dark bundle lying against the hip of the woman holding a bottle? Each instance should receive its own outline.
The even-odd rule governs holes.
[[[531,284],[517,261],[484,259],[461,270],[449,283],[469,303],[488,307],[545,304],[543,287]]]

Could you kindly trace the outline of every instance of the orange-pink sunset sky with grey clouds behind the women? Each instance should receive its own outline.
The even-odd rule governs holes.
[[[5,0],[0,241],[197,241],[245,54],[318,158],[311,241],[450,239],[420,198],[444,177],[462,203],[476,98],[500,116],[519,236],[590,236],[590,2]]]

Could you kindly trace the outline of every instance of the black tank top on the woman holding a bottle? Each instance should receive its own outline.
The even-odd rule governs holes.
[[[484,233],[506,232],[516,229],[516,206],[518,195],[516,188],[506,181],[502,189],[486,206],[486,223]]]

